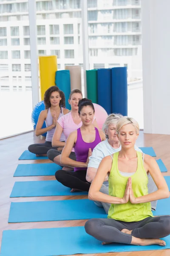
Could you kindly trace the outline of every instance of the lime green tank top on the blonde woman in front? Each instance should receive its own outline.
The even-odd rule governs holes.
[[[142,153],[137,152],[138,164],[135,174],[131,175],[132,189],[135,197],[148,194],[148,177],[144,169]],[[122,176],[118,169],[119,152],[113,154],[113,162],[109,175],[109,195],[123,198],[128,177]],[[142,221],[144,218],[153,217],[151,204],[131,204],[128,201],[126,204],[111,204],[108,211],[108,218],[113,218],[118,221],[132,222]]]

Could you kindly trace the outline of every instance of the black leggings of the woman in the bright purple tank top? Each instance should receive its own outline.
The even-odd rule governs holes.
[[[88,191],[91,183],[86,180],[87,170],[80,171],[64,171],[58,170],[55,173],[56,180],[71,189],[80,189],[82,191]]]

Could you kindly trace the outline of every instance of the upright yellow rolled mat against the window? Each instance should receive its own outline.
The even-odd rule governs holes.
[[[57,71],[57,55],[39,56],[40,91],[41,100],[44,99],[45,91],[55,85]]]

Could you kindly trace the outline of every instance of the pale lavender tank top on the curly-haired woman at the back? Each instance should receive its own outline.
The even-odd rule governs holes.
[[[61,108],[61,112],[59,113],[58,119],[59,119],[61,116],[63,116],[63,115],[64,115],[64,114],[63,114],[63,109]],[[50,109],[48,108],[47,118],[45,119],[46,127],[52,125],[52,123],[53,123],[53,117],[52,117],[52,115],[51,115]],[[45,139],[46,141],[52,141],[52,138],[53,138],[53,135],[54,135],[54,131],[55,131],[55,127],[52,128],[50,131],[47,132],[47,136],[46,136],[46,139]],[[63,132],[62,132],[62,134],[61,134],[61,137],[60,137],[59,141],[65,141],[65,136],[64,136]]]

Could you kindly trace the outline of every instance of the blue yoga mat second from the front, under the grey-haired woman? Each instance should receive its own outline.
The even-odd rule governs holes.
[[[170,198],[158,201],[156,215],[170,215]],[[9,223],[31,221],[66,221],[107,218],[102,207],[88,199],[11,203]]]

